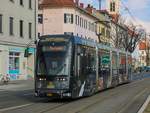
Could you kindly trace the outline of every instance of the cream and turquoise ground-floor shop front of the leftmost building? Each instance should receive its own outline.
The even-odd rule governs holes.
[[[11,80],[27,80],[34,77],[35,48],[29,48],[29,57],[24,57],[25,49],[0,46],[0,75],[8,74]]]

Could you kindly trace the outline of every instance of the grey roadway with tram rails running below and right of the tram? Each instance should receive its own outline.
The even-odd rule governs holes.
[[[3,113],[97,113],[98,111],[110,113],[108,110],[112,110],[111,113],[133,113],[126,112],[126,110],[133,109],[131,106],[140,108],[142,103],[140,100],[149,93],[150,88],[148,86],[148,80],[140,80],[76,100],[29,98],[33,99],[30,102],[31,105],[19,106],[18,108],[14,106],[11,110],[6,108]],[[27,95],[28,97],[29,95]],[[139,101],[140,103],[138,103]],[[136,102],[138,105],[135,105]]]

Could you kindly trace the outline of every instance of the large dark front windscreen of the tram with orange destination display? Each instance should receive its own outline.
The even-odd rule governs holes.
[[[38,50],[37,75],[69,75],[71,44],[52,43],[52,45],[42,45]]]

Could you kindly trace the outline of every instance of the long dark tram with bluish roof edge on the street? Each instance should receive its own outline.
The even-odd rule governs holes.
[[[131,79],[131,54],[78,36],[41,36],[36,56],[39,97],[91,96]]]

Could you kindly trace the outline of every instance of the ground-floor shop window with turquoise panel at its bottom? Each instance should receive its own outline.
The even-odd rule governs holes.
[[[9,74],[19,74],[19,52],[9,52]]]

